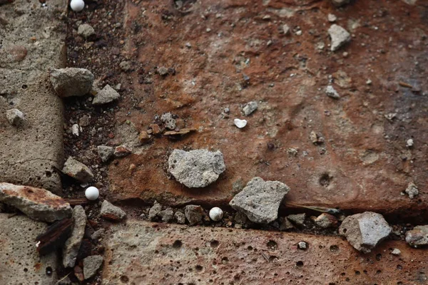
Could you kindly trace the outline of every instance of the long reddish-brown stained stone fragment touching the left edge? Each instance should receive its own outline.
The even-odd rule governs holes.
[[[55,222],[72,213],[70,204],[47,190],[10,183],[0,183],[0,202],[43,222]]]

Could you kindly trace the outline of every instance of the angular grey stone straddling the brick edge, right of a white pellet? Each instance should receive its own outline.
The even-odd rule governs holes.
[[[279,181],[254,177],[230,201],[230,206],[247,215],[251,222],[267,224],[278,216],[278,209],[290,188]]]

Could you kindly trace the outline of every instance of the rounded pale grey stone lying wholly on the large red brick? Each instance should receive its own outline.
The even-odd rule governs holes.
[[[225,170],[220,151],[174,150],[168,159],[168,171],[189,188],[208,186]]]

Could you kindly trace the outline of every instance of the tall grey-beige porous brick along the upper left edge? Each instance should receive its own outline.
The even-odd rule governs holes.
[[[66,0],[17,0],[1,6],[0,17],[0,181],[61,191],[55,168],[63,163],[63,105],[51,90],[49,68],[64,64]],[[24,47],[24,48],[22,48]],[[21,57],[13,56],[16,51]],[[23,58],[24,57],[24,58]],[[16,128],[6,110],[26,115]]]

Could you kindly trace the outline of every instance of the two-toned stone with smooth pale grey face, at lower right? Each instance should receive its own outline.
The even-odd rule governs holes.
[[[364,212],[346,217],[339,227],[339,234],[360,252],[369,253],[387,238],[392,231],[382,214]]]

